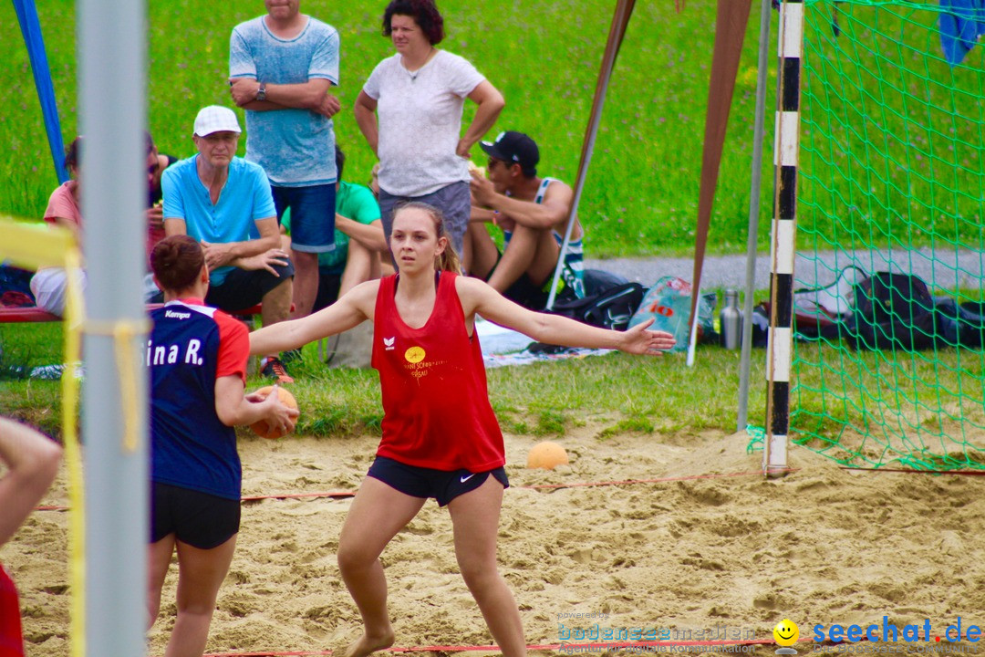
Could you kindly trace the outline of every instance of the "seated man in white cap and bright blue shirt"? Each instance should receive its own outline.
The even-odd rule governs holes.
[[[264,325],[291,313],[294,266],[281,248],[267,174],[236,157],[239,122],[229,107],[203,107],[192,140],[198,154],[164,170],[164,230],[201,242],[209,265],[207,305],[234,312],[263,302]],[[277,356],[262,363],[279,383],[291,378]]]

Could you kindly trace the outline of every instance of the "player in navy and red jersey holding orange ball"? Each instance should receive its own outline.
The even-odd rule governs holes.
[[[200,656],[216,596],[230,569],[239,531],[241,470],[236,425],[266,420],[294,427],[297,411],[278,395],[244,395],[249,334],[204,304],[205,254],[187,235],[165,237],[151,253],[164,307],[152,314],[151,546],[149,625],[161,607],[171,556],[178,556],[177,620],[164,653]]]

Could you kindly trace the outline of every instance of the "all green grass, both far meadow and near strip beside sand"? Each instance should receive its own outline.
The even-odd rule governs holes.
[[[314,0],[303,4],[305,12],[337,26],[342,33],[343,84],[338,93],[344,110],[337,118],[336,131],[348,152],[348,177],[357,180],[367,177],[372,155],[361,139],[351,107],[369,71],[391,53],[389,41],[379,33],[382,5]],[[543,173],[573,181],[613,6],[585,0],[505,5],[441,2],[448,32],[442,47],[470,59],[507,99],[492,134],[518,129],[533,135],[542,146]],[[955,247],[980,249],[985,48],[977,47],[963,65],[950,68],[941,59],[936,5],[866,0],[834,5],[818,0],[807,7],[808,85],[803,98],[799,245],[807,250],[841,246],[863,252],[887,245],[930,246],[942,253],[953,252]],[[840,36],[831,30],[835,9]],[[38,10],[68,140],[76,126],[75,5],[49,0],[40,3]],[[230,29],[261,11],[260,2],[152,3],[150,129],[165,153],[191,154],[190,124],[200,106],[231,104],[226,85]],[[758,36],[755,7],[753,14],[709,236],[712,253],[745,249]],[[0,26],[16,33],[15,24],[12,8],[0,4]],[[711,0],[691,0],[680,14],[670,4],[637,5],[613,76],[582,199],[580,218],[587,228],[586,251],[591,257],[689,254],[713,30]],[[767,116],[771,116],[774,101],[775,33],[774,16]],[[12,99],[7,103],[6,120],[0,122],[0,135],[8,144],[6,157],[0,159],[0,213],[37,218],[55,180],[31,71],[19,38],[0,42],[0,56],[8,62],[0,70],[0,82]],[[761,249],[768,244],[772,202],[772,120],[767,118],[766,123],[758,232]],[[965,296],[981,298],[981,291]],[[0,344],[6,350],[0,365],[16,368],[59,361],[59,336],[57,326],[0,327]],[[873,373],[880,366],[886,368],[884,357],[863,355],[855,360],[834,346],[821,347],[817,354],[814,349],[800,351],[795,363],[801,386],[797,404],[807,434],[844,430],[838,428],[831,404],[864,407],[871,389],[906,388],[905,380],[892,385],[886,381],[906,378],[908,357],[894,357],[899,364],[884,375]],[[979,356],[963,351],[932,354],[929,361],[913,369],[931,367],[933,384],[925,384],[929,379],[921,374],[920,382],[912,387],[926,398],[940,397],[940,390],[960,390],[972,380],[980,385]],[[754,422],[761,422],[757,419],[764,406],[761,361],[756,355],[750,402]],[[590,359],[495,370],[491,390],[504,426],[518,432],[563,431],[570,423],[584,422],[596,414],[606,417],[603,425],[608,428],[603,433],[610,429],[731,430],[737,364],[735,353],[717,348],[702,348],[693,369],[678,357],[655,362]],[[846,366],[859,373],[854,378],[843,377]],[[300,430],[348,434],[378,426],[378,399],[363,394],[366,387],[375,390],[368,385],[374,373],[328,370],[313,358],[299,373],[308,382],[302,405],[320,409],[318,415],[302,422]],[[586,382],[591,385],[581,385]],[[57,416],[45,410],[57,407],[55,384],[8,380],[0,385],[5,387],[0,412],[14,412],[57,428]],[[830,391],[839,386],[850,390],[843,398],[841,393],[832,397]],[[955,416],[947,400],[937,406],[941,410],[929,416],[921,411],[921,417],[912,421],[918,434],[926,435],[931,429],[925,427],[947,424],[963,412],[958,409]],[[902,415],[907,413],[904,410]],[[868,411],[861,416],[865,423],[875,417]],[[945,429],[934,427],[933,431],[944,433]],[[958,451],[966,448],[964,443]],[[952,449],[945,447],[945,451]]]

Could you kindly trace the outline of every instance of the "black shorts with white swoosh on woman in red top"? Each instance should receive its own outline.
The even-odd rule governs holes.
[[[447,505],[458,495],[475,491],[490,475],[502,484],[502,488],[509,488],[506,471],[502,468],[475,473],[464,468],[449,472],[407,465],[386,456],[377,456],[366,474],[405,495],[433,497],[438,506]]]

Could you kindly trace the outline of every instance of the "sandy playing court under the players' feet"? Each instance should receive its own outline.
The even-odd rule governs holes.
[[[570,457],[553,471],[523,467],[543,437],[506,435],[513,488],[503,500],[499,564],[528,644],[631,627],[766,639],[784,618],[801,637],[815,624],[865,626],[884,616],[900,626],[930,620],[941,632],[959,616],[985,624],[982,478],[851,472],[793,447],[799,470],[765,481],[742,474],[755,473],[761,458],[747,453],[744,435],[601,439],[599,430],[589,423],[553,437]],[[241,432],[243,494],[354,491],[377,441]],[[523,488],[662,478],[672,481]],[[43,503],[66,499],[61,477]],[[244,502],[210,653],[326,651],[359,635],[335,560],[350,504]],[[0,553],[21,591],[31,657],[69,654],[67,517],[35,512]],[[397,646],[492,642],[458,573],[446,510],[428,501],[382,560]],[[175,582],[172,568],[150,654],[164,651]]]

